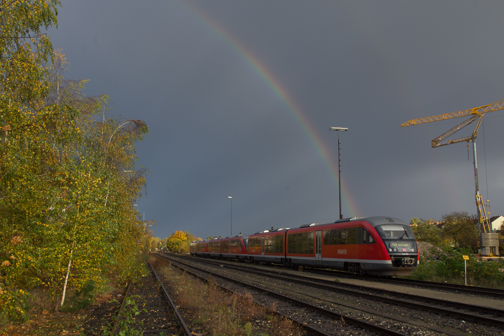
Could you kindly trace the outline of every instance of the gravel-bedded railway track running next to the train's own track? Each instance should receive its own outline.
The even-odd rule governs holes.
[[[177,256],[179,257],[179,256]],[[189,260],[198,260],[194,257],[186,257]],[[205,259],[205,264],[222,264],[222,262],[215,260]],[[331,281],[324,281],[319,279],[314,279],[311,277],[303,277],[289,274],[285,276],[278,274],[277,272],[264,272],[258,271],[257,268],[253,267],[244,267],[244,266],[231,266],[226,265],[224,268],[229,268],[233,270],[233,272],[246,272],[247,274],[256,274],[258,276],[264,276],[264,283],[271,283],[272,278],[276,279],[275,282],[296,282],[296,284],[302,284],[303,286],[316,288],[317,291],[330,291],[330,292],[338,292],[345,293],[346,295],[353,296],[353,299],[347,298],[348,301],[355,301],[355,297],[361,297],[365,300],[373,300],[380,301],[390,306],[395,307],[403,307],[401,311],[395,311],[396,320],[404,321],[404,318],[401,315],[405,315],[406,312],[409,312],[409,315],[413,315],[416,317],[417,324],[425,326],[422,322],[432,320],[430,316],[433,314],[442,314],[445,316],[444,318],[438,318],[437,324],[438,326],[426,326],[432,330],[444,333],[457,334],[458,331],[450,331],[448,329],[458,329],[465,332],[472,332],[473,334],[502,334],[501,330],[504,327],[504,311],[494,308],[487,308],[481,306],[467,305],[461,304],[458,302],[446,301],[446,300],[438,300],[431,298],[424,298],[415,295],[409,295],[405,293],[397,293],[392,291],[379,290],[375,288],[366,288],[363,286],[356,286],[351,284],[335,284]],[[275,274],[276,273],[276,274]],[[285,288],[285,286],[287,288]],[[284,290],[288,290],[288,287],[291,286],[286,284],[284,286]],[[278,286],[277,286],[278,287]],[[292,288],[292,287],[291,287]],[[292,291],[291,292],[296,292]],[[299,291],[297,292],[298,294]],[[330,296],[330,294],[323,294],[322,296],[318,296],[318,299],[324,299],[325,297]],[[316,297],[316,296],[314,296]],[[326,300],[327,301],[327,300]],[[350,305],[352,306],[352,305]],[[372,305],[371,305],[372,306]],[[355,308],[355,307],[354,307]],[[390,307],[387,307],[389,309]],[[412,309],[415,309],[416,312],[411,313]],[[358,308],[357,308],[358,309]],[[365,309],[360,308],[360,310],[365,311]],[[381,310],[381,309],[380,309]],[[392,311],[394,312],[394,311]],[[401,313],[397,316],[397,313]],[[425,312],[429,312],[425,314]],[[482,312],[485,312],[485,316],[481,316]],[[390,315],[390,314],[387,314]],[[382,314],[383,316],[383,314]],[[390,316],[387,316],[390,317]],[[420,319],[420,321],[419,321]],[[410,320],[411,322],[411,320]],[[420,322],[420,324],[418,324]],[[415,323],[413,323],[415,324]],[[439,327],[439,325],[443,325],[444,327]],[[482,332],[484,330],[484,332]]]

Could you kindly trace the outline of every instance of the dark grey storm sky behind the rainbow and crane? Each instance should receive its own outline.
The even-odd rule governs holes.
[[[464,118],[410,119],[504,98],[504,3],[62,1],[55,48],[87,95],[144,120],[138,201],[161,238],[206,238],[344,217],[476,213]],[[478,133],[480,189],[504,213],[504,112]],[[472,124],[456,134],[470,135]],[[485,165],[486,163],[486,165]]]

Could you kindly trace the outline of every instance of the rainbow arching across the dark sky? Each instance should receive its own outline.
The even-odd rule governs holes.
[[[316,149],[319,156],[322,158],[324,165],[333,179],[335,185],[338,185],[338,163],[332,157],[332,150],[329,150],[324,141],[320,138],[320,130],[316,130],[310,123],[306,114],[303,113],[301,107],[289,95],[285,87],[273,76],[273,74],[261,63],[261,61],[250,52],[245,45],[232,36],[227,30],[224,29],[217,21],[208,16],[194,4],[188,2],[181,2],[181,4],[191,13],[196,15],[203,23],[221,36],[236,52],[249,64],[250,68],[268,85],[272,92],[288,107],[289,112],[294,117],[296,122],[303,129],[304,134],[308,141]],[[327,129],[324,131],[329,131]],[[341,181],[342,189],[342,213],[344,217],[358,216],[360,212],[357,208],[357,203],[352,197],[350,188],[344,180]],[[345,208],[347,211],[345,211]]]

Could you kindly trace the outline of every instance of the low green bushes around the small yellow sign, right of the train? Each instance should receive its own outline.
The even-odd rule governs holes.
[[[504,285],[503,260],[479,260],[474,258],[470,248],[445,245],[442,251],[433,249],[438,260],[424,258],[411,275],[412,279],[464,284],[464,260],[462,255],[469,255],[467,260],[467,283],[474,286],[502,288]]]

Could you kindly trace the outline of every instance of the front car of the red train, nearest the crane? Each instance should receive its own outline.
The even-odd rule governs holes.
[[[413,232],[396,218],[311,224],[287,232],[284,263],[352,274],[411,275],[418,265]]]

